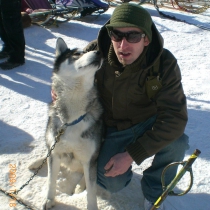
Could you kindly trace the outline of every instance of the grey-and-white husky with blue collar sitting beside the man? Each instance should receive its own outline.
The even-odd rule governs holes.
[[[49,105],[46,142],[50,149],[58,130],[63,129],[48,159],[47,199],[43,209],[54,206],[56,179],[60,166],[70,170],[69,193],[73,194],[83,174],[87,188],[87,208],[97,210],[96,159],[102,141],[102,106],[94,87],[100,68],[100,52],[70,50],[63,39],[56,43],[52,89],[57,100]]]

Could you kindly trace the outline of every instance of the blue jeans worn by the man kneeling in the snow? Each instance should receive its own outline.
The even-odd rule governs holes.
[[[129,129],[118,131],[115,127],[108,127],[105,141],[102,144],[97,168],[97,183],[109,192],[117,192],[123,189],[132,178],[132,167],[122,175],[116,177],[104,176],[104,166],[111,157],[117,153],[125,152],[125,147],[141,137],[145,131],[150,130],[156,120],[156,116],[151,117],[145,122],[136,124]],[[189,148],[188,137],[183,134],[179,139],[159,151],[152,162],[152,165],[143,172],[141,186],[147,200],[155,202],[162,194],[161,173],[166,165],[182,161],[185,151]],[[172,167],[166,173],[165,182],[170,183],[175,177],[177,167]]]

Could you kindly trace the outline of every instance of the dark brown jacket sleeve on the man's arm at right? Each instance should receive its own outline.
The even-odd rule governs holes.
[[[163,51],[162,88],[155,96],[157,118],[152,127],[126,150],[139,165],[146,158],[178,139],[187,124],[186,97],[181,84],[177,60],[168,51]]]

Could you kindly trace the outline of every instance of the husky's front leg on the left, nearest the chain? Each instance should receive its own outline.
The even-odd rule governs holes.
[[[52,153],[48,160],[48,186],[47,199],[44,202],[43,209],[47,210],[55,205],[56,181],[60,170],[60,157]]]

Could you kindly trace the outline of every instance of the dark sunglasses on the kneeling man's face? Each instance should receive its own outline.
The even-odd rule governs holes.
[[[136,32],[136,31],[130,31],[127,33],[122,33],[117,30],[111,30],[109,31],[109,37],[112,41],[120,42],[125,37],[125,39],[130,43],[137,43],[141,41],[141,38],[145,37],[144,33]]]

